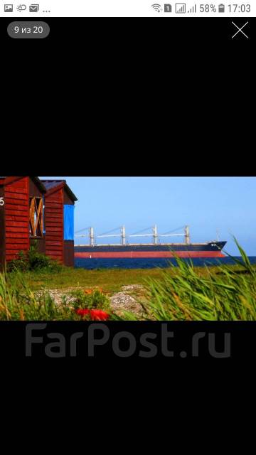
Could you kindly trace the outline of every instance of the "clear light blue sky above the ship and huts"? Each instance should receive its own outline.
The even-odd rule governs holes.
[[[235,235],[247,254],[256,256],[254,177],[41,178],[65,178],[78,197],[75,231],[93,226],[100,235],[125,225],[132,234],[156,224],[164,233],[187,224],[192,242],[214,240],[218,229],[220,240],[228,240],[228,252],[238,252],[231,237]]]

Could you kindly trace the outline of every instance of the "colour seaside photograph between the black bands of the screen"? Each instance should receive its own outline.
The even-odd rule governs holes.
[[[255,321],[255,177],[0,177],[1,321]]]

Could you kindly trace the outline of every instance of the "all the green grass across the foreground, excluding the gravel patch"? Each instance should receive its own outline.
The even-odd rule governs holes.
[[[236,265],[194,267],[176,258],[178,267],[166,269],[85,270],[63,267],[59,272],[0,274],[0,319],[79,319],[74,306],[109,308],[108,296],[85,289],[99,287],[113,294],[128,284],[143,284],[139,296],[144,319],[159,321],[256,321],[256,267],[235,240],[242,259]],[[76,289],[76,304],[67,304],[65,290]],[[36,291],[44,290],[41,296]],[[56,305],[47,289],[63,289],[63,304]],[[82,289],[82,290],[81,290]],[[134,314],[122,318],[137,319]]]

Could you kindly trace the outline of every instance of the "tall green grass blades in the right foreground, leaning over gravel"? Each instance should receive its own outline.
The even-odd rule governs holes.
[[[256,269],[236,245],[242,259],[235,267],[220,264],[198,271],[177,258],[173,273],[147,280],[146,319],[158,321],[256,321]],[[130,315],[134,319],[133,315]],[[129,315],[127,315],[129,318]]]

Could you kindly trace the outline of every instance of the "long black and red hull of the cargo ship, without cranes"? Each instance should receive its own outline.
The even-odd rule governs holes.
[[[171,257],[225,257],[221,251],[225,242],[172,245],[75,245],[75,257],[85,259],[117,258],[171,258]]]

